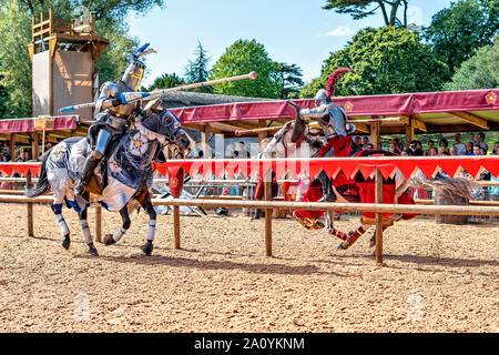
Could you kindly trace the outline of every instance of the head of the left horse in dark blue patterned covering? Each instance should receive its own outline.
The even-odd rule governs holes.
[[[157,134],[162,144],[175,144],[180,152],[185,151],[191,145],[191,139],[181,128],[181,122],[176,115],[170,112],[162,99],[152,100],[144,108],[145,115],[141,124],[149,131]]]

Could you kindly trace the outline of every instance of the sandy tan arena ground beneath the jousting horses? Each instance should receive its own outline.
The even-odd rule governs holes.
[[[0,204],[0,332],[498,332],[499,224],[399,222],[385,233],[386,266],[368,236],[348,251],[325,231],[275,220],[160,216],[153,256],[141,255],[147,216],[115,245],[85,254],[74,212],[70,251],[48,205]],[[90,211],[93,229],[94,211]],[[103,212],[103,232],[120,225]],[[358,219],[336,225],[347,232]],[[86,312],[88,311],[88,312]]]

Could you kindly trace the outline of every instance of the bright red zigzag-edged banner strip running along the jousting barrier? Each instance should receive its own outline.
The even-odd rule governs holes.
[[[245,178],[258,173],[259,176],[272,169],[277,179],[286,173],[297,178],[298,174],[307,172],[310,176],[317,176],[324,171],[329,178],[336,176],[339,171],[345,175],[353,176],[357,171],[368,176],[378,168],[384,178],[390,176],[395,170],[406,178],[410,178],[420,170],[426,178],[431,179],[438,171],[444,171],[450,178],[455,178],[461,170],[466,170],[471,178],[488,171],[493,176],[499,176],[499,156],[363,156],[363,158],[314,158],[314,159],[193,159],[171,160],[155,165],[156,170],[164,176],[174,176],[182,168],[190,175],[200,173],[215,178],[226,174],[233,178],[242,173]],[[18,173],[26,176],[31,171],[35,176],[40,171],[40,163],[0,163],[2,175],[11,176]]]

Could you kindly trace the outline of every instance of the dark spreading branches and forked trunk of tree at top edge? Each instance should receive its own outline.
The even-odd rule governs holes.
[[[348,13],[354,20],[359,20],[381,11],[385,26],[407,27],[407,8],[409,0],[326,0],[325,10]],[[401,20],[397,17],[400,7]]]

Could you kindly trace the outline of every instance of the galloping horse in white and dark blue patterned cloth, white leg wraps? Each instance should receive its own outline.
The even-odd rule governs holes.
[[[40,179],[34,190],[26,192],[29,197],[39,196],[49,190],[53,192],[52,212],[61,234],[62,246],[69,250],[70,230],[62,216],[62,205],[74,209],[88,245],[88,253],[98,256],[86,221],[91,199],[95,199],[110,212],[120,212],[121,227],[114,234],[104,236],[104,244],[111,245],[130,229],[130,213],[139,207],[149,214],[146,243],[141,247],[144,255],[151,255],[156,225],[156,213],[151,203],[152,161],[167,144],[185,150],[191,140],[180,128],[179,119],[164,109],[162,100],[150,101],[136,114],[126,132],[111,146],[106,156],[95,168],[94,176],[84,193],[74,194],[74,184],[83,171],[85,158],[91,153],[91,138],[69,138],[51,148],[42,156]]]

